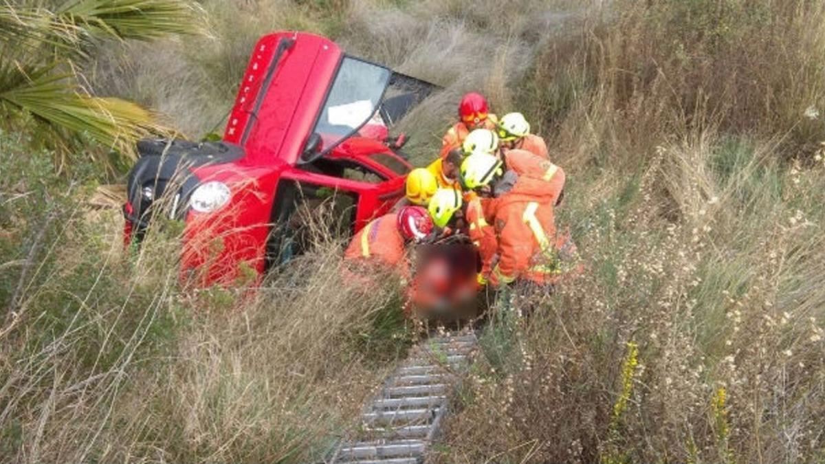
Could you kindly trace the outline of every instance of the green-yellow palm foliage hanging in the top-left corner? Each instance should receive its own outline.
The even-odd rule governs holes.
[[[134,157],[135,140],[172,133],[144,107],[83,91],[75,59],[87,56],[101,37],[152,40],[203,34],[203,9],[192,0],[54,3],[0,0],[0,127],[31,130],[33,119],[35,140],[56,149],[58,169],[78,135]]]

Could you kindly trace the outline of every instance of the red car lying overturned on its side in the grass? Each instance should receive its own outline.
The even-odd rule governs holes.
[[[300,253],[302,205],[330,205],[355,232],[403,196],[412,166],[389,128],[434,90],[320,36],[264,36],[222,141],[139,143],[125,240],[142,239],[162,212],[184,220],[182,275],[210,285]]]

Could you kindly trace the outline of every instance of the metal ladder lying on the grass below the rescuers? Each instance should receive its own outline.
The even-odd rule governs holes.
[[[464,330],[423,340],[361,414],[354,438],[337,447],[331,462],[423,462],[447,412],[447,397],[469,366],[478,339]]]

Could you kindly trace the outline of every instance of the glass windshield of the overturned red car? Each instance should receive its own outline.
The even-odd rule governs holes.
[[[377,117],[376,111],[391,74],[389,69],[377,64],[344,57],[321,116],[315,123],[314,132],[323,140],[323,154]]]

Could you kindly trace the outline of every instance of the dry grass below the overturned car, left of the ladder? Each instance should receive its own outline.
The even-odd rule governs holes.
[[[61,272],[71,272],[70,258],[61,257],[68,265]],[[61,289],[64,298],[92,298],[66,308],[77,313],[62,331],[31,320],[35,308],[28,308],[47,291],[36,288],[20,322],[4,330],[5,458],[323,457],[377,385],[382,362],[403,354],[407,337],[394,292],[365,296],[343,285],[338,263],[337,250],[318,250],[253,298],[219,288],[181,293],[172,267],[139,268],[109,282],[125,286],[113,306],[95,304],[104,289]],[[93,272],[115,271],[101,265]],[[48,344],[38,344],[35,329],[51,334]]]

